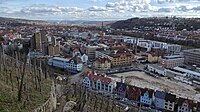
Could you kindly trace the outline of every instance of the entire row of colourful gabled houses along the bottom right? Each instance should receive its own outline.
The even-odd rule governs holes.
[[[83,84],[85,87],[100,92],[113,93],[120,98],[127,98],[130,101],[138,102],[144,106],[155,106],[156,110],[167,112],[199,112],[200,103],[184,98],[176,98],[176,95],[140,88],[124,83],[121,77],[120,82],[115,82],[105,75],[88,73],[84,75]]]

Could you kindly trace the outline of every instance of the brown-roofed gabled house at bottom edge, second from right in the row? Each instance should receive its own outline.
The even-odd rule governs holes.
[[[192,112],[194,103],[192,100],[179,98],[178,99],[178,111],[177,112]]]

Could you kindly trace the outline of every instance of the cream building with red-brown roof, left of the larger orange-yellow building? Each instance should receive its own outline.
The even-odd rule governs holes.
[[[95,68],[99,70],[109,70],[111,68],[111,60],[108,58],[97,58],[95,60]]]

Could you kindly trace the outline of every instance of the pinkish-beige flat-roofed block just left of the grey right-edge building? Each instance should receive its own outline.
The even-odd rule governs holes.
[[[177,66],[182,66],[184,63],[184,58],[180,55],[174,55],[174,56],[164,56],[162,57],[160,64],[164,68],[174,68]]]

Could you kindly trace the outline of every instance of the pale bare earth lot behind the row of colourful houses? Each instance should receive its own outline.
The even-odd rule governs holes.
[[[114,80],[120,81],[120,77],[124,76],[126,82],[142,88],[151,88],[154,90],[168,91],[183,98],[200,101],[200,92],[195,90],[195,87],[178,81],[171,81],[167,78],[154,78],[144,72],[132,71],[126,73],[118,73],[110,75]]]

